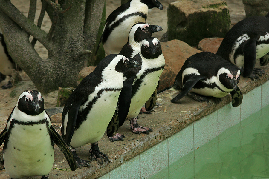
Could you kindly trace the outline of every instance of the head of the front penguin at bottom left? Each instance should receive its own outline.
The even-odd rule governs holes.
[[[40,92],[26,90],[20,95],[17,108],[27,115],[39,115],[44,111],[44,99]]]

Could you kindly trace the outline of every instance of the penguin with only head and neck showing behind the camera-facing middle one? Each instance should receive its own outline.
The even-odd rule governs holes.
[[[149,25],[143,22],[136,23],[129,32],[128,42],[123,46],[119,54],[132,58],[140,52],[140,42],[142,40],[161,30],[163,28],[157,25]]]

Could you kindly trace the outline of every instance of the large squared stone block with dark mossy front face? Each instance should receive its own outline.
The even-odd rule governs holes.
[[[197,46],[204,38],[224,37],[230,29],[227,4],[221,0],[181,0],[169,4],[168,40]]]

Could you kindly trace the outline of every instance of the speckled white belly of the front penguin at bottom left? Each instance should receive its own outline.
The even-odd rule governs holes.
[[[11,178],[47,175],[53,162],[54,148],[46,124],[15,124],[4,152],[4,166],[8,175]]]

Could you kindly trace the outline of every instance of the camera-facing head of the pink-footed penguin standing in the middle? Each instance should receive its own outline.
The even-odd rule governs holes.
[[[162,54],[160,41],[155,37],[148,37],[141,42],[140,55],[147,59],[157,58]]]

